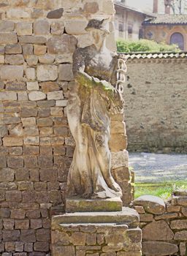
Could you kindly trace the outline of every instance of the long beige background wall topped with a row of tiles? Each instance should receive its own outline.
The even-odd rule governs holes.
[[[129,151],[187,152],[186,63],[184,53],[129,56],[124,90]]]

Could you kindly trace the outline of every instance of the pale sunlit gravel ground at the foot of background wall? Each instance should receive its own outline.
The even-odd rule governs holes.
[[[129,166],[136,182],[187,181],[187,154],[129,153]]]

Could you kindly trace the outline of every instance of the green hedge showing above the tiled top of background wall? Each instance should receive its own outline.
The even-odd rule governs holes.
[[[164,42],[157,43],[147,39],[140,39],[138,41],[118,39],[117,49],[119,53],[180,51],[178,45],[167,45]]]

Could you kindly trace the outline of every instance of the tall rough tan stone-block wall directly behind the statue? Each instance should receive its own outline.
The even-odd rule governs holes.
[[[50,214],[63,206],[75,146],[66,118],[72,55],[98,39],[85,31],[89,20],[112,15],[110,0],[0,1],[1,256],[50,253]],[[113,35],[111,22],[110,50],[115,50]],[[118,148],[126,148],[123,126],[113,122],[110,148],[128,204],[128,154]]]

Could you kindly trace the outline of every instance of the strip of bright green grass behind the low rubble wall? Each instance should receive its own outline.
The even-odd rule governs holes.
[[[171,197],[174,190],[187,189],[186,181],[173,181],[158,184],[135,184],[135,198],[141,195],[155,195],[163,200]]]

